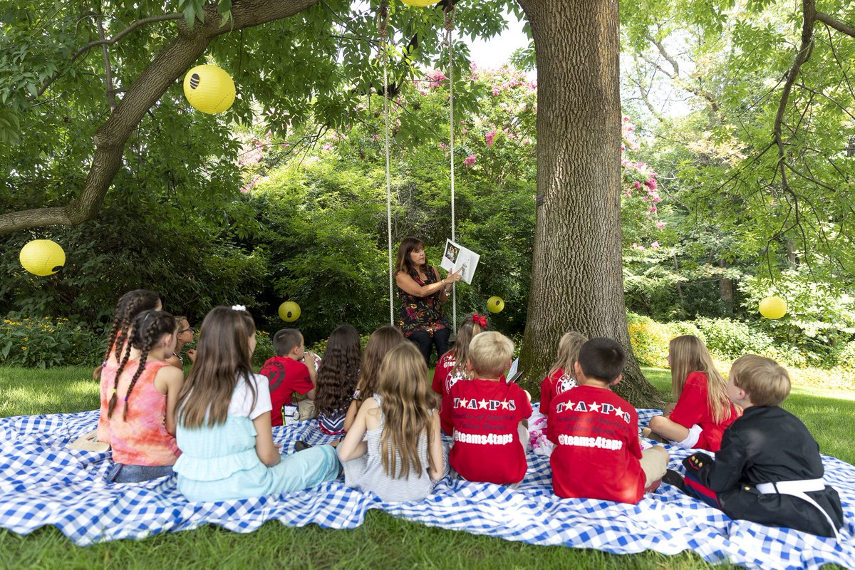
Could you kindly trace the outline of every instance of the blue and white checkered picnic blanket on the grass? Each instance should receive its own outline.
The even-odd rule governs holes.
[[[655,410],[640,410],[640,422]],[[828,562],[855,567],[855,467],[823,457],[825,478],[840,493],[846,525],[840,544],[804,532],[730,520],[670,485],[637,505],[559,499],[551,491],[549,460],[528,455],[528,473],[515,489],[443,479],[422,502],[382,502],[345,487],[341,479],[309,491],[227,502],[187,502],[174,478],[145,483],[104,481],[109,453],[70,450],[68,443],[95,429],[98,412],[0,419],[0,526],[27,534],[53,525],[75,544],[145,538],[161,532],[219,525],[252,532],[267,520],[288,526],[315,523],[354,528],[369,508],[425,525],[486,534],[531,544],[563,544],[615,554],[693,550],[706,561],[752,568],[818,568]],[[328,440],[314,422],[274,428],[292,452],[293,442]],[[670,467],[685,450],[669,449]]]

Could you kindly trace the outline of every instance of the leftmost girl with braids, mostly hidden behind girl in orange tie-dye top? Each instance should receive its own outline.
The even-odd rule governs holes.
[[[101,416],[98,419],[97,427],[97,440],[99,442],[109,444],[107,406],[110,394],[113,391],[113,380],[108,381],[104,378],[104,368],[109,368],[106,375],[115,379],[119,362],[131,350],[131,345],[127,339],[133,333],[133,320],[145,310],[155,309],[159,311],[162,308],[160,296],[145,289],[128,291],[119,298],[119,303],[116,303],[115,317],[107,336],[107,351],[104,353],[103,363],[92,373],[94,379],[101,379]],[[91,438],[91,434],[87,433],[82,438]]]

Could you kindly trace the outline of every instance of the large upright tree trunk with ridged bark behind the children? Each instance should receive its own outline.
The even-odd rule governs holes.
[[[543,378],[567,331],[628,352],[616,386],[659,402],[629,344],[621,247],[618,0],[520,0],[538,70],[537,223],[521,367]]]

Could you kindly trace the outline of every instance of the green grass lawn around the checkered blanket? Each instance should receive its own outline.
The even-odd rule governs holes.
[[[670,373],[646,368],[658,389]],[[98,406],[91,370],[0,367],[0,417],[78,412]],[[855,461],[849,438],[855,427],[855,394],[795,389],[786,408],[811,429],[823,453]],[[121,540],[77,547],[54,527],[26,537],[0,530],[0,568],[675,568],[712,567],[693,553],[610,555],[597,550],[535,546],[465,532],[430,528],[370,511],[352,531],[282,526],[271,521],[251,534],[215,526],[144,541]],[[721,568],[722,566],[716,566]],[[727,567],[727,566],[724,566]]]

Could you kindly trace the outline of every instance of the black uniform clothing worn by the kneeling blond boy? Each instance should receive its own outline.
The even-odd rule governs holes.
[[[688,467],[687,460],[687,467]],[[701,484],[716,492],[724,514],[767,526],[786,526],[823,537],[833,537],[828,520],[811,503],[789,495],[763,495],[755,488],[823,476],[819,445],[805,424],[777,406],[754,406],[724,431],[715,461],[702,461],[694,471]],[[843,526],[843,508],[833,487],[807,493]]]

